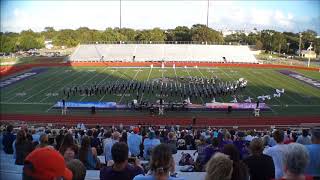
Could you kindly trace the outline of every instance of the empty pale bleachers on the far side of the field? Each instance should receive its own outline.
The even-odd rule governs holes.
[[[202,44],[80,44],[70,61],[257,63],[248,46]]]

